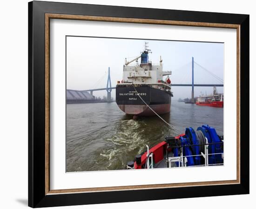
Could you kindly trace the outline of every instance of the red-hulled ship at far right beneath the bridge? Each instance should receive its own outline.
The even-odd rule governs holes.
[[[216,86],[213,88],[213,95],[200,96],[196,99],[195,104],[211,107],[223,107],[223,94],[219,94],[216,90]]]

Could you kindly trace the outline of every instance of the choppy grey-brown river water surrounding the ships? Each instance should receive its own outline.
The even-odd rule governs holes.
[[[115,102],[67,104],[67,172],[120,170],[135,155],[161,142],[166,136],[184,133],[186,127],[202,124],[223,135],[223,108],[172,101],[171,112],[133,120]]]

